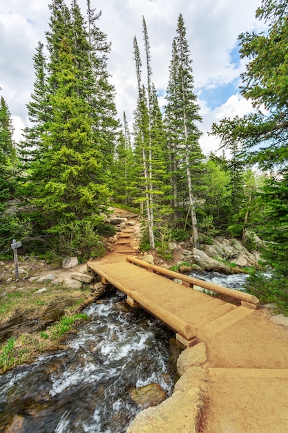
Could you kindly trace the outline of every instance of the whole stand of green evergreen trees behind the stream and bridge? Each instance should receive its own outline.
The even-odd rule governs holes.
[[[22,251],[46,259],[104,255],[109,206],[143,216],[143,249],[166,254],[169,241],[195,248],[216,236],[236,237],[250,250],[265,241],[247,290],[288,313],[288,3],[262,0],[261,33],[238,37],[247,61],[240,92],[253,113],[224,118],[211,134],[220,149],[204,156],[201,116],[184,18],[175,23],[166,104],[153,82],[151,45],[142,19],[143,52],[133,39],[137,100],[133,127],[119,119],[108,71],[111,44],[101,12],[87,0],[49,6],[46,41],[35,48],[30,126],[13,140],[9,107],[0,104],[0,258]],[[1,83],[0,83],[1,85]],[[0,90],[1,92],[1,90]],[[18,212],[6,212],[8,201]],[[267,273],[267,269],[269,273]],[[263,271],[266,271],[263,273]]]

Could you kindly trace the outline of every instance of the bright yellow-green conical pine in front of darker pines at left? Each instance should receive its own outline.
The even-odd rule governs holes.
[[[90,107],[79,97],[79,71],[64,39],[55,68],[58,88],[50,98],[53,122],[50,134],[42,136],[46,152],[33,169],[37,200],[54,219],[84,219],[99,214],[108,192],[99,179],[100,154],[93,145]]]

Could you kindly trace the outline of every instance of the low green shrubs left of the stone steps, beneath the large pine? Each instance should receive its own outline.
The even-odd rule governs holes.
[[[67,222],[60,220],[48,230],[52,234],[50,249],[61,258],[79,256],[82,260],[89,257],[102,257],[106,250],[97,234],[93,219]]]

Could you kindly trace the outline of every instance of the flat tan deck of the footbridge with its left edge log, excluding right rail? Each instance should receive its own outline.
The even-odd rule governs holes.
[[[254,312],[253,309],[237,307],[195,291],[162,275],[149,273],[126,261],[90,263],[88,267],[126,293],[133,304],[140,304],[191,344],[196,338],[195,329],[198,337],[206,340]]]

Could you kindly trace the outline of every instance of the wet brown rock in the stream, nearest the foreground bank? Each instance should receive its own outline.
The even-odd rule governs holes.
[[[130,388],[128,394],[137,406],[144,408],[157,406],[166,398],[166,392],[157,383],[151,383],[139,388]]]

